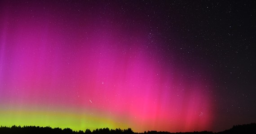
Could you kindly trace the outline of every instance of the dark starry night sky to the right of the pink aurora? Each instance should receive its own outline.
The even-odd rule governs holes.
[[[190,67],[190,72],[199,67],[212,77],[216,129],[256,121],[255,4],[237,0],[162,1],[145,9],[155,14],[147,19],[164,40],[159,47],[165,54],[174,52],[174,60]]]

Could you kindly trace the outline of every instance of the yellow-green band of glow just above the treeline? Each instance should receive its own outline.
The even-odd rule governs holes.
[[[9,108],[0,110],[0,126],[50,126],[52,128],[70,128],[74,131],[95,130],[99,128],[127,129],[128,124],[118,121],[114,116],[98,111],[90,112],[85,109],[62,108]]]

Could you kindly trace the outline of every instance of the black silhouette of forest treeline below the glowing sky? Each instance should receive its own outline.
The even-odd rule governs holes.
[[[40,127],[40,126],[0,126],[0,134],[256,134],[256,123],[236,125],[229,130],[221,132],[210,132],[210,131],[201,131],[201,132],[159,132],[159,131],[145,131],[144,133],[133,132],[131,128],[121,130],[119,129],[109,129],[101,128],[96,130],[79,130],[73,131],[70,128],[51,128]]]

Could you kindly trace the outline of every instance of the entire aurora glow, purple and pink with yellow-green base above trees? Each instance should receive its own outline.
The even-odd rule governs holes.
[[[21,12],[11,8],[1,18],[0,125],[210,129],[211,84],[185,74],[182,64],[159,63],[161,54],[146,47],[149,38],[140,25],[123,28],[111,21],[124,18],[101,22],[84,14],[72,21],[51,8],[46,14],[42,7],[32,14],[16,8]]]

